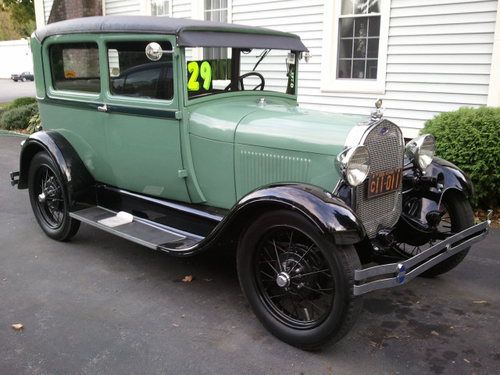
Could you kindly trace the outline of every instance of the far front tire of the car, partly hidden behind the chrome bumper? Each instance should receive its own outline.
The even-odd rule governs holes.
[[[469,201],[460,193],[448,193],[443,199],[443,205],[449,214],[451,231],[456,233],[474,225],[474,212]],[[470,247],[459,252],[445,261],[435,265],[422,274],[425,277],[435,277],[451,271],[458,266],[467,256]]]

